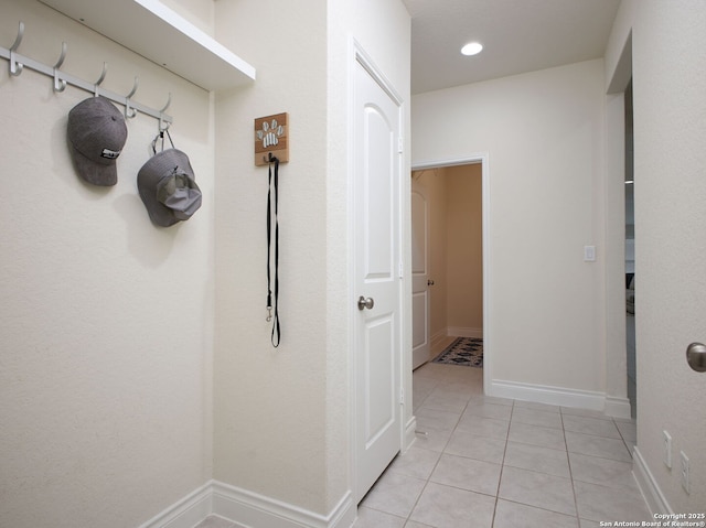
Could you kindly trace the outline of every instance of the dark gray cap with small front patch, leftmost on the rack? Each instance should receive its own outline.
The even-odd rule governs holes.
[[[128,139],[125,118],[105,97],[90,97],[68,112],[67,137],[74,166],[94,185],[118,182],[116,160]]]

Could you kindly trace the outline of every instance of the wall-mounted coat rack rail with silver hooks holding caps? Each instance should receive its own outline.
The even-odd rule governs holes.
[[[49,66],[46,64],[42,64],[33,58],[26,57],[24,55],[20,55],[18,53],[18,47],[22,42],[22,37],[24,36],[24,23],[20,22],[20,26],[18,30],[18,36],[14,40],[14,43],[9,49],[0,47],[0,57],[7,58],[10,62],[10,75],[17,77],[24,71],[25,67],[33,69],[35,72],[42,73],[52,77],[54,80],[54,91],[64,91],[66,89],[66,85],[72,85],[77,88],[84,89],[86,91],[93,93],[95,96],[103,96],[107,99],[110,99],[118,105],[125,107],[125,117],[133,118],[137,116],[137,112],[145,114],[147,116],[151,116],[154,119],[159,120],[159,129],[165,130],[172,122],[171,116],[164,114],[169,108],[169,105],[172,101],[172,95],[169,94],[167,99],[167,104],[159,110],[141,105],[135,100],[132,100],[132,96],[137,91],[138,88],[138,78],[135,77],[135,85],[128,95],[119,95],[115,91],[107,90],[100,86],[100,84],[106,78],[106,74],[108,72],[107,63],[103,63],[103,72],[100,73],[100,77],[95,83],[89,83],[87,80],[83,80],[78,77],[75,77],[71,74],[62,72],[60,68],[66,58],[66,43],[62,42],[62,50],[58,56],[58,60],[53,66]]]

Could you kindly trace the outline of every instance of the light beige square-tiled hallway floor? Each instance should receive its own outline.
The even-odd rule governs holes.
[[[393,461],[361,503],[354,528],[651,520],[632,476],[633,422],[484,397],[482,375],[432,363],[414,373],[417,429],[426,435]]]

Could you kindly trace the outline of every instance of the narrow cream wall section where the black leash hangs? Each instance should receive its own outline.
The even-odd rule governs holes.
[[[310,3],[216,6],[218,40],[258,72],[256,84],[216,100],[214,476],[325,511],[327,300],[317,279],[327,274],[327,13],[325,2]],[[254,165],[253,121],[284,111],[290,162],[279,176],[275,349],[265,321],[268,173]]]

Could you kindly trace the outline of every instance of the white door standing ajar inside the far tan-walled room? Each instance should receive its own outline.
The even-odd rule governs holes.
[[[411,182],[411,368],[429,360],[429,202]]]

